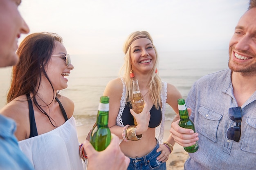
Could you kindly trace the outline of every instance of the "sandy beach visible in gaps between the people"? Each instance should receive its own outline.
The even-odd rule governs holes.
[[[90,129],[92,128],[93,124],[77,126],[77,135],[79,142],[83,142],[88,135]],[[164,126],[164,141],[169,136],[170,132],[171,121],[166,121]],[[175,144],[173,147],[173,152],[169,156],[168,161],[166,162],[166,169],[167,170],[183,170],[184,162],[188,159],[189,155],[186,153],[184,148],[179,144]]]

